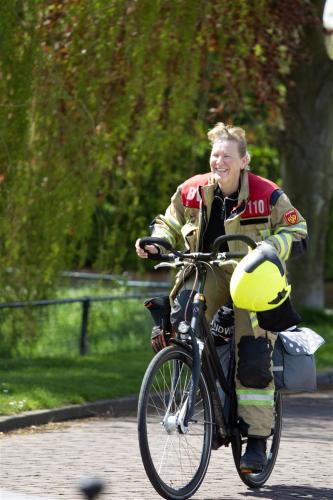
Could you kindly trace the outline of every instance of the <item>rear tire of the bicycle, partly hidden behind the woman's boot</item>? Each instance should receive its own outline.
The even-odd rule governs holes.
[[[279,451],[280,438],[282,432],[282,395],[277,391],[274,397],[274,421],[271,436],[267,439],[267,464],[262,472],[258,474],[243,474],[239,470],[240,458],[242,455],[242,440],[240,433],[235,436],[232,442],[232,451],[237,468],[237,472],[247,486],[250,488],[260,488],[271,475]]]

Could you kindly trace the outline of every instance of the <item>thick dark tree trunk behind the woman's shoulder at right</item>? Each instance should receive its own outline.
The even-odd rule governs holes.
[[[333,61],[319,28],[305,33],[311,53],[292,72],[285,127],[279,138],[286,193],[306,218],[307,253],[289,264],[293,298],[298,305],[324,307],[324,259],[333,193]]]

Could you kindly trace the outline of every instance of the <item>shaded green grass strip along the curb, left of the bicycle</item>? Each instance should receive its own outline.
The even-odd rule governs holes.
[[[153,351],[0,360],[0,415],[138,394]]]

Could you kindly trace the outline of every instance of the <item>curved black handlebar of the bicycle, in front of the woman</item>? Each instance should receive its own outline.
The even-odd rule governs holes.
[[[162,239],[162,238],[155,238],[152,236],[147,236],[145,238],[141,238],[139,241],[140,247],[144,250],[146,245],[158,245],[165,250],[169,251],[172,255],[168,254],[151,254],[148,253],[148,259],[152,260],[159,260],[159,261],[173,261],[175,256],[179,257],[181,260],[186,259],[186,258],[193,258],[195,260],[205,260],[209,261],[214,258],[216,258],[219,248],[222,245],[222,243],[226,243],[228,241],[242,241],[243,243],[246,243],[249,247],[252,249],[256,248],[257,244],[256,242],[250,238],[249,236],[243,235],[243,234],[225,234],[223,236],[219,236],[216,238],[216,240],[213,243],[212,247],[212,252],[209,253],[204,253],[204,252],[193,252],[193,253],[186,253],[186,252],[179,252],[178,250],[175,250],[172,245]],[[246,253],[243,252],[225,252],[224,253],[226,258],[239,258],[239,257],[244,257]]]

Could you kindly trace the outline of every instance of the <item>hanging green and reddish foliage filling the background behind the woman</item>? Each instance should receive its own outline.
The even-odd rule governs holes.
[[[309,9],[3,1],[2,300],[47,296],[66,267],[143,266],[134,240],[177,184],[207,170],[218,120],[245,124],[253,169],[277,179],[271,132]]]

